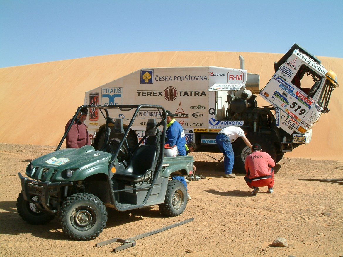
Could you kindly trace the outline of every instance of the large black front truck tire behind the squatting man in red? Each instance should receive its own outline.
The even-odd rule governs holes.
[[[260,144],[262,151],[268,152],[268,154],[273,158],[273,160],[276,160],[276,148],[267,136],[261,133],[252,133],[248,134],[247,138],[249,139],[249,142],[252,145],[255,143]],[[251,150],[244,143],[243,139],[238,138],[236,141],[237,144],[233,146],[235,154],[234,170],[237,173],[245,174],[245,158],[247,157],[247,155],[251,153]]]

